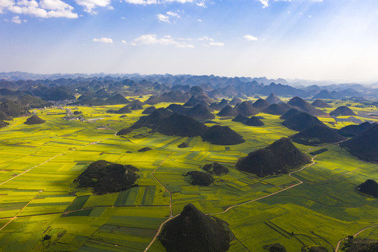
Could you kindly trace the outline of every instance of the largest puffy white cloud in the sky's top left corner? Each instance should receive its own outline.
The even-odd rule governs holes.
[[[35,0],[14,1],[1,0],[0,13],[4,8],[7,10],[25,15],[34,15],[37,18],[78,18],[77,13],[73,13],[73,7],[61,0]]]

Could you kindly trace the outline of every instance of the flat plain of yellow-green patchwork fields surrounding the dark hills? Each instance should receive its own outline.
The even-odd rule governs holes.
[[[377,111],[354,105],[351,109],[357,112]],[[229,126],[246,140],[218,146],[201,137],[168,137],[145,127],[126,137],[116,136],[143,116],[143,110],[125,118],[106,113],[121,107],[70,107],[96,119],[92,122],[66,121],[61,109],[41,109],[36,113],[45,123],[24,125],[26,118],[15,118],[0,130],[1,251],[145,251],[161,223],[189,203],[229,223],[235,235],[229,251],[266,251],[264,246],[275,243],[288,251],[311,246],[333,251],[340,239],[378,224],[378,201],[355,190],[366,179],[378,180],[378,166],[354,158],[340,146],[296,144],[303,152],[324,146],[328,151],[292,176],[259,178],[235,169],[238,158],[296,133],[282,126],[279,116],[260,113],[263,127],[216,116],[206,125]],[[350,124],[319,119],[336,129]],[[188,147],[178,148],[182,142]],[[138,152],[143,147],[152,150]],[[96,160],[137,167],[136,186],[106,195],[93,195],[90,190],[74,194],[73,179]],[[211,186],[187,181],[184,174],[212,162],[230,172],[215,176]],[[377,239],[377,230],[364,231],[361,237]],[[158,239],[149,250],[165,251]]]

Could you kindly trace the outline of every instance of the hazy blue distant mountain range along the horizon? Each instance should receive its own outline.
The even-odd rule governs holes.
[[[84,95],[82,102],[87,104],[106,104],[110,94],[119,92],[127,95],[154,94],[156,102],[180,97],[181,93],[187,93],[184,101],[197,93],[192,93],[192,87],[196,87],[201,96],[206,95],[212,99],[224,97],[254,97],[258,95],[268,96],[271,93],[281,97],[303,97],[314,99],[364,99],[378,100],[378,88],[376,85],[365,86],[358,83],[322,83],[316,85],[299,85],[299,80],[287,81],[283,78],[268,79],[265,77],[223,77],[223,76],[193,76],[152,74],[105,74],[105,73],[75,73],[75,74],[35,74],[24,72],[0,73],[0,97],[1,94],[12,94],[14,98],[24,94],[41,97],[45,100],[74,99],[73,94]],[[309,84],[312,82],[307,82]],[[321,85],[327,84],[327,85]],[[127,87],[124,92],[122,87]],[[106,90],[106,91],[105,91]],[[123,92],[123,93],[122,93]],[[157,97],[161,95],[161,97]],[[5,95],[4,95],[5,96]],[[151,102],[154,104],[154,102]]]

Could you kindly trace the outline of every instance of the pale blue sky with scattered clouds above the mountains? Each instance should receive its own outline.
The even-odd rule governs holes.
[[[0,0],[0,71],[378,81],[377,0]]]

